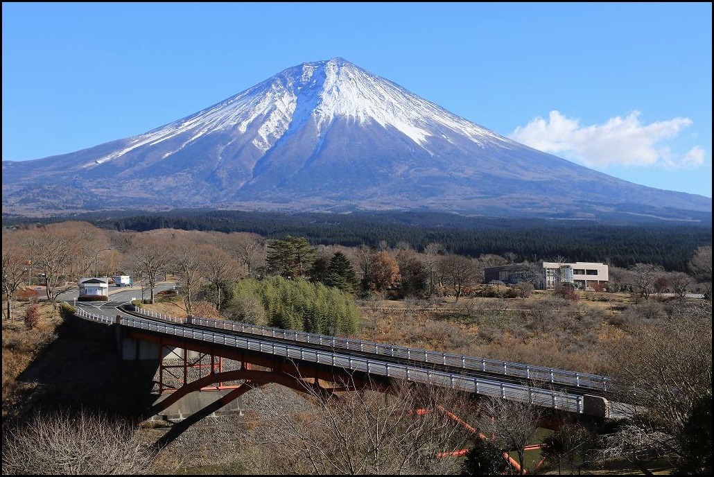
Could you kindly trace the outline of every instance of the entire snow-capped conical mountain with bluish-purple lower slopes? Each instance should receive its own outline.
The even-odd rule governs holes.
[[[2,162],[7,215],[203,208],[711,220],[711,199],[518,144],[335,58],[166,126]]]

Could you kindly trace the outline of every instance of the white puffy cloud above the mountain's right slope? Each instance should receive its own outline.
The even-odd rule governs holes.
[[[526,126],[518,126],[508,137],[533,149],[603,169],[610,165],[683,169],[704,164],[705,151],[700,146],[694,146],[683,156],[673,154],[667,146],[658,146],[693,124],[691,119],[641,124],[639,116],[640,111],[633,111],[624,118],[615,116],[605,124],[582,126],[578,119],[550,111],[547,120],[538,116]]]

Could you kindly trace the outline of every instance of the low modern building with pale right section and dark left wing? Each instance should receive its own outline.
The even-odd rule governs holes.
[[[609,280],[608,266],[593,262],[542,262],[521,263],[506,266],[486,268],[483,271],[486,283],[502,281],[503,283],[518,283],[530,281],[535,288],[552,290],[558,283],[570,283],[581,290],[593,289],[594,283],[607,283]]]

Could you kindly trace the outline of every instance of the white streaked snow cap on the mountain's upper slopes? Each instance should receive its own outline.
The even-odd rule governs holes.
[[[245,134],[256,121],[259,126],[251,142],[265,153],[290,129],[297,129],[311,120],[317,125],[318,132],[322,132],[337,117],[359,124],[373,122],[385,128],[392,126],[418,146],[424,146],[430,136],[440,136],[451,142],[454,134],[466,135],[477,144],[487,138],[504,144],[510,141],[391,81],[373,76],[342,59],[332,59],[281,71],[193,116],[134,136],[126,148],[90,161],[84,167],[94,167],[141,146],[154,146],[189,134],[173,151],[164,154],[165,159],[204,134],[231,129]]]

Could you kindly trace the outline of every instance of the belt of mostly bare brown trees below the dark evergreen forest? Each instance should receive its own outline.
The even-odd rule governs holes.
[[[610,263],[608,291],[629,291],[648,299],[651,294],[675,293],[684,298],[699,289],[710,296],[711,246],[699,246],[688,252],[686,270],[691,274],[666,271],[658,263],[638,262],[628,268]],[[3,291],[7,316],[16,291],[28,283],[44,285],[48,301],[71,288],[81,278],[95,273],[104,276],[129,274],[141,281],[149,301],[154,301],[156,283],[167,273],[180,276],[186,311],[193,313],[193,301],[214,303],[216,313],[237,306],[233,298],[242,278],[280,276],[296,285],[304,278],[311,286],[336,288],[349,296],[368,298],[429,298],[473,293],[483,282],[483,271],[493,266],[516,263],[517,253],[503,256],[480,253],[471,257],[448,251],[441,243],[431,242],[421,250],[400,241],[389,246],[338,244],[314,246],[306,237],[287,235],[268,239],[244,232],[199,232],[178,229],[159,231],[113,231],[98,229],[86,222],[26,226],[3,231]],[[564,262],[557,255],[548,261]],[[523,262],[521,262],[523,263]],[[101,264],[101,267],[100,267]],[[540,277],[537,262],[525,262]],[[34,270],[36,276],[31,276]],[[695,281],[696,280],[696,281]],[[525,298],[533,289],[527,283],[503,288],[512,298]],[[533,283],[535,284],[535,283]],[[480,293],[496,293],[481,288]],[[485,295],[483,295],[485,296]],[[567,298],[567,297],[566,297]],[[351,318],[346,318],[351,321]],[[320,328],[321,329],[321,328]],[[309,331],[309,330],[308,330]]]

